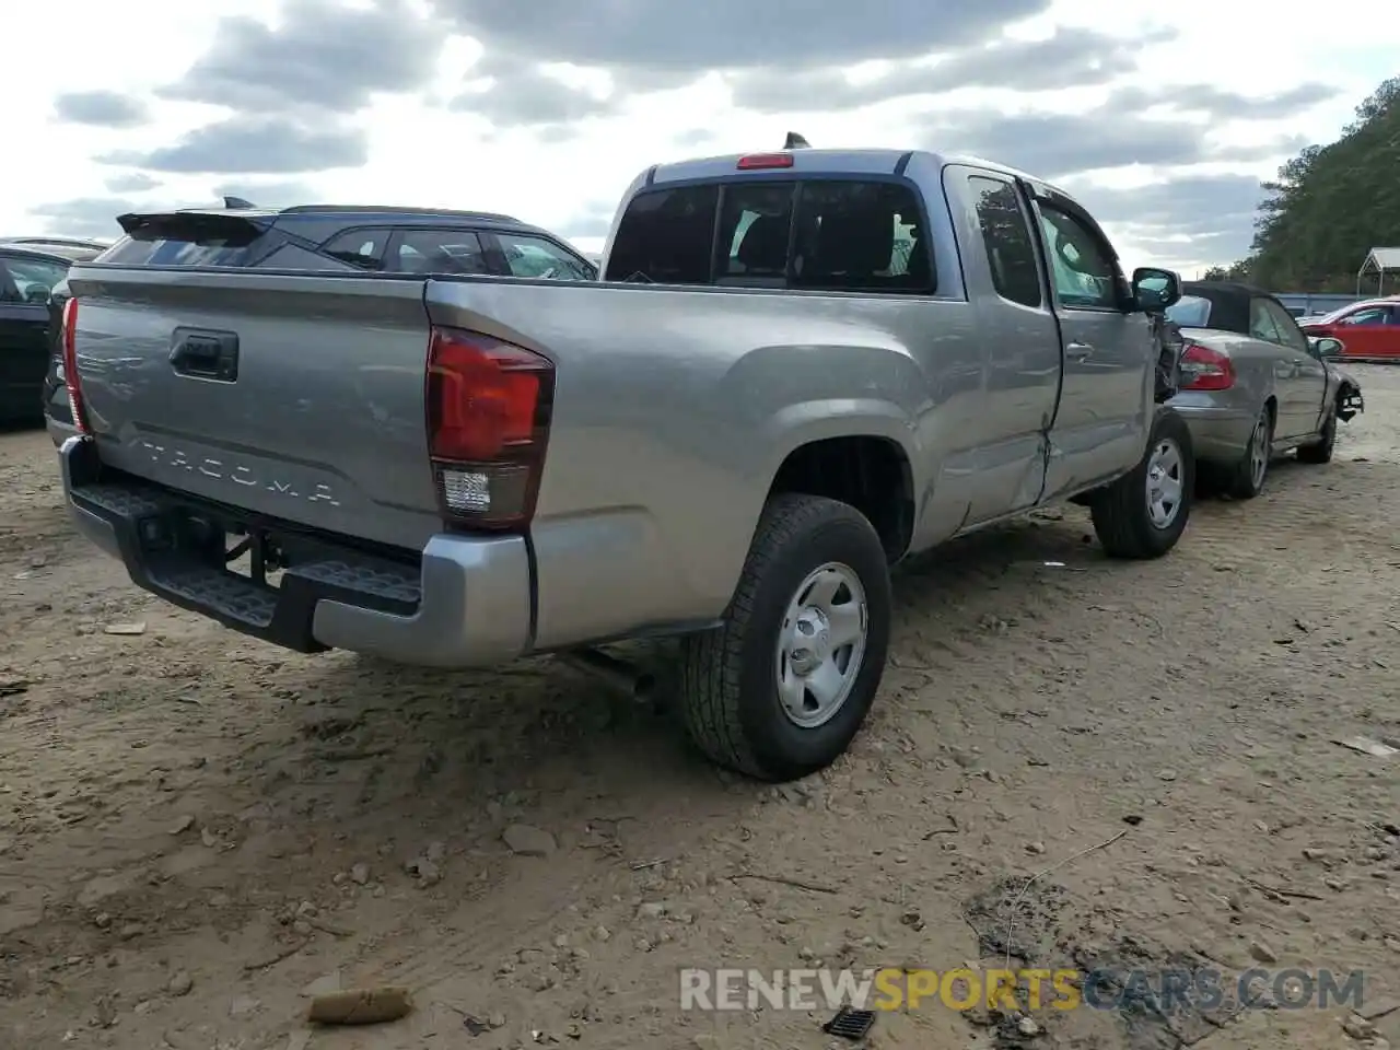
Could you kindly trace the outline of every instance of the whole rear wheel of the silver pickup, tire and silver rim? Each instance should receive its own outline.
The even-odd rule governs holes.
[[[760,780],[825,769],[875,699],[890,606],[885,549],[860,511],[774,497],[724,624],[682,645],[690,738],[718,764]]]

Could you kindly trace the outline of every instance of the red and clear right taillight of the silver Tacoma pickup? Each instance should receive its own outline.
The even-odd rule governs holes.
[[[428,452],[447,519],[517,528],[535,512],[554,365],[479,332],[434,328],[428,343]]]

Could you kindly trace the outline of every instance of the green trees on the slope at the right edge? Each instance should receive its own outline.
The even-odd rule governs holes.
[[[1309,146],[1278,169],[1274,182],[1263,183],[1249,255],[1212,266],[1205,280],[1355,293],[1366,252],[1400,246],[1397,179],[1400,77],[1392,77],[1357,106],[1355,120],[1337,141]]]

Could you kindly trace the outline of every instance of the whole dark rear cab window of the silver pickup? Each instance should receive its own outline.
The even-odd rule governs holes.
[[[890,178],[735,178],[644,190],[605,280],[928,294],[913,186]]]

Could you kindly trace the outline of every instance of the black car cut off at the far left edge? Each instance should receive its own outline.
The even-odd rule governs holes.
[[[101,248],[98,249],[101,251]],[[90,256],[91,258],[91,256]],[[53,351],[49,300],[74,262],[28,242],[0,242],[0,423],[36,423]]]

